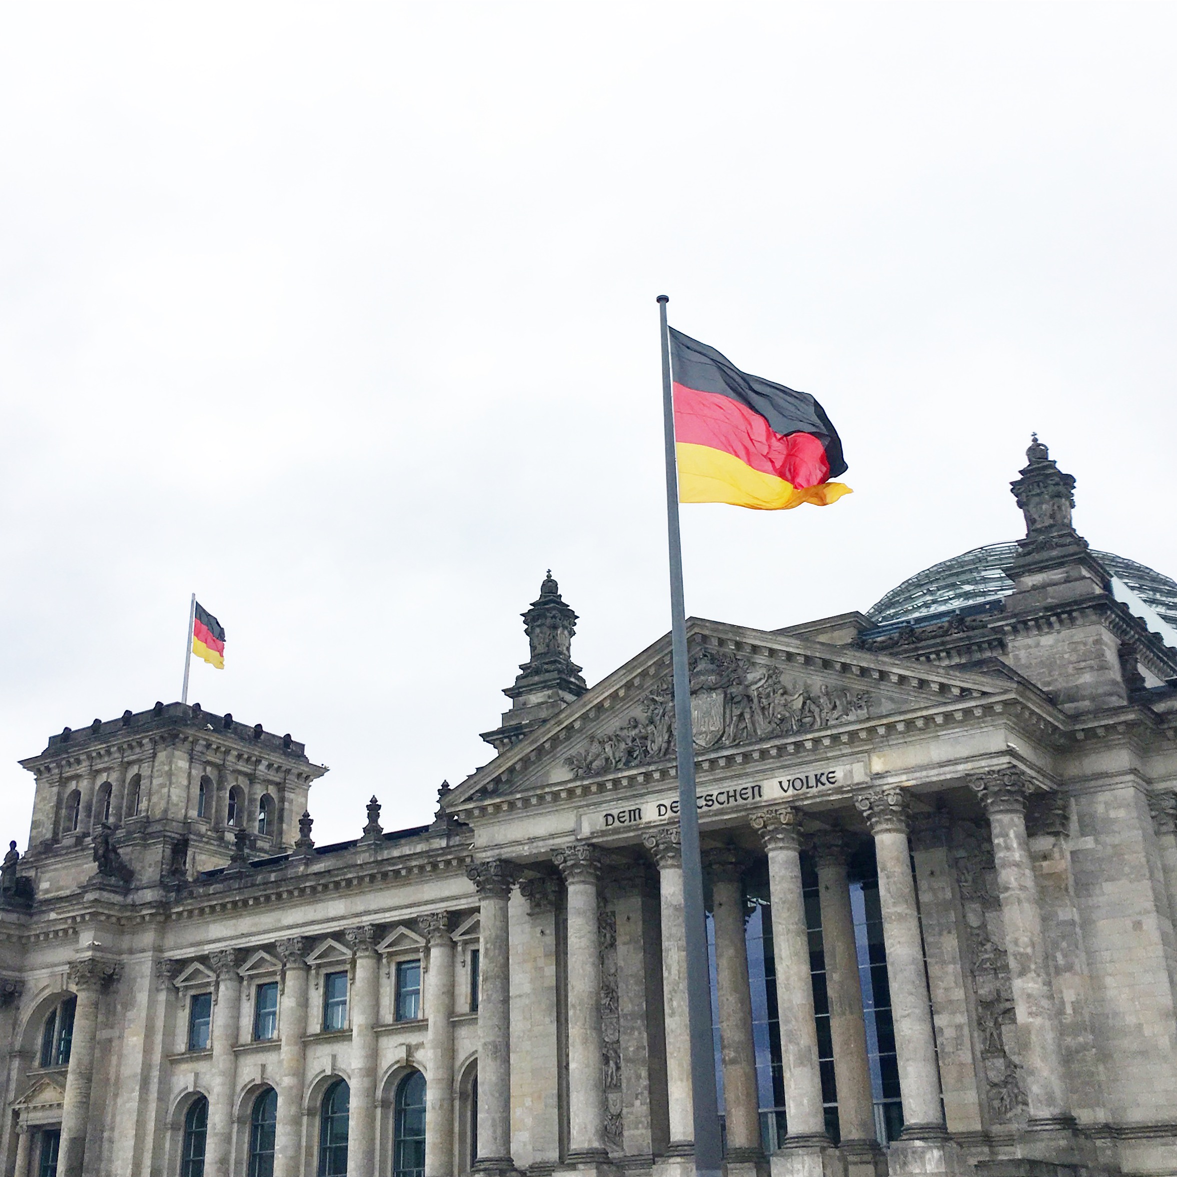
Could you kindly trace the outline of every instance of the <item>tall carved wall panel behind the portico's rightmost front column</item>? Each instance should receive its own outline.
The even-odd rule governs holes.
[[[966,972],[976,997],[985,1104],[992,1123],[1009,1123],[1025,1113],[1026,1096],[988,823],[955,823],[950,844],[964,913]]]

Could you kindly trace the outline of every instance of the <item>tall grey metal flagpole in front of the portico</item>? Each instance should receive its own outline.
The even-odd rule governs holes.
[[[674,672],[674,732],[678,757],[678,823],[683,843],[683,918],[686,922],[686,1005],[691,1025],[691,1095],[694,1100],[694,1171],[719,1177],[723,1145],[716,1095],[711,1030],[707,926],[703,909],[699,814],[694,800],[694,738],[691,731],[691,676],[686,661],[686,607],[683,603],[683,543],[678,531],[678,468],[674,461],[674,398],[665,294],[658,295],[663,345],[663,414],[666,434],[666,531],[670,540],[671,654]]]

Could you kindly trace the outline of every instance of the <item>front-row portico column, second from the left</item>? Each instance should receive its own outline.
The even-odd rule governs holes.
[[[552,852],[567,887],[568,911],[568,1150],[574,1165],[609,1161],[601,1071],[600,932],[597,882],[600,853],[578,843]]]

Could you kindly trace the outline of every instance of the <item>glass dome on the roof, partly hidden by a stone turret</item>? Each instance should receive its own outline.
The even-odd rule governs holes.
[[[1009,543],[989,544],[953,556],[951,560],[933,564],[909,577],[876,601],[866,616],[876,625],[893,625],[1000,600],[1013,591],[1005,570],[1017,554],[1018,545]],[[1170,625],[1177,626],[1177,580],[1112,552],[1093,551],[1091,554]]]

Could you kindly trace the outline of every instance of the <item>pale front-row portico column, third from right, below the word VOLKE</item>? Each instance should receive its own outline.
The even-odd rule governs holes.
[[[769,856],[772,958],[777,966],[777,1012],[789,1125],[785,1144],[829,1144],[802,891],[800,814],[792,806],[782,805],[754,814],[752,826],[759,832]]]

